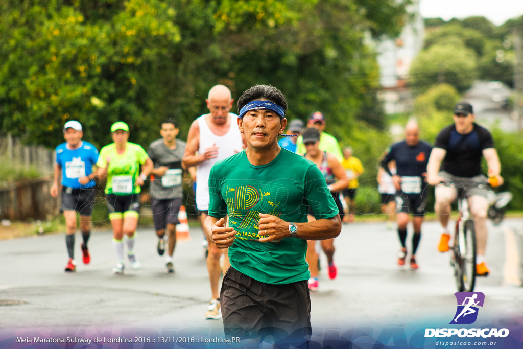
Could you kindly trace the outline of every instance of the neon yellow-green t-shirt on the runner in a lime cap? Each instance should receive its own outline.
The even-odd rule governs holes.
[[[140,193],[136,180],[140,175],[140,165],[147,160],[147,153],[141,145],[127,142],[122,154],[116,151],[116,144],[111,143],[100,150],[96,163],[99,167],[107,166],[107,184],[105,194],[131,195]]]

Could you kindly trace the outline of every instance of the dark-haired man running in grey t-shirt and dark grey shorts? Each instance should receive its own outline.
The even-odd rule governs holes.
[[[179,130],[176,122],[165,119],[161,122],[161,139],[151,143],[147,154],[154,164],[151,174],[151,202],[153,208],[154,229],[158,235],[158,254],[165,253],[165,230],[167,230],[167,255],[165,267],[168,273],[174,273],[173,252],[176,245],[176,224],[179,224],[178,212],[183,199],[181,178],[186,143],[176,139]]]

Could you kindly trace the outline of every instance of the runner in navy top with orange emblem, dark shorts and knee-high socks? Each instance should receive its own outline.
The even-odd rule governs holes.
[[[397,234],[400,238],[401,250],[398,255],[397,264],[404,265],[407,254],[405,240],[407,239],[407,224],[410,220],[409,214],[413,215],[411,269],[417,269],[416,250],[421,239],[423,216],[427,203],[427,183],[425,175],[427,171],[428,156],[432,147],[424,141],[420,141],[419,127],[416,121],[410,121],[405,126],[405,140],[393,144],[389,152],[380,162],[383,170],[392,176],[396,188],[396,212],[397,212]],[[396,174],[392,174],[389,163],[396,162]]]

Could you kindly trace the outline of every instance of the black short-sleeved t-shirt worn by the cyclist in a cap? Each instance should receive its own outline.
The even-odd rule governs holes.
[[[487,129],[472,123],[470,133],[460,134],[452,124],[439,132],[434,148],[447,151],[441,170],[458,177],[474,177],[481,174],[483,150],[494,148],[492,135]]]

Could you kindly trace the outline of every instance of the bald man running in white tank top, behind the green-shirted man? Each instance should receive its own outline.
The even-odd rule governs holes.
[[[216,85],[209,91],[207,107],[209,114],[204,114],[192,122],[187,137],[187,147],[183,158],[185,166],[196,166],[196,207],[202,212],[200,219],[207,218],[209,210],[209,172],[217,161],[240,152],[245,141],[238,129],[236,114],[229,110],[232,108],[233,99],[229,88]],[[187,167],[187,168],[188,168]],[[228,249],[220,250],[207,238],[209,254],[207,256],[207,269],[211,284],[212,298],[206,312],[207,319],[220,319],[220,257],[225,255],[223,270],[229,265]]]

